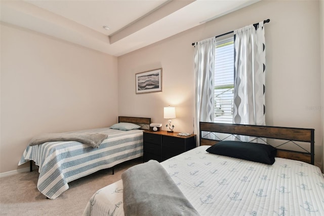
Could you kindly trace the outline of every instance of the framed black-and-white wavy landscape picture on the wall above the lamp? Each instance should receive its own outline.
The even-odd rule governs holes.
[[[162,91],[162,68],[137,73],[136,94]]]

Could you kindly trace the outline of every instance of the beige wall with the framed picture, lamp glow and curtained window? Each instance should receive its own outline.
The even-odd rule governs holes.
[[[256,23],[265,24],[266,124],[315,128],[321,164],[318,1],[261,1],[174,37],[118,57],[118,111],[163,123],[163,107],[176,106],[176,131],[193,131],[192,42]],[[156,32],[159,33],[159,32]],[[163,91],[135,94],[135,74],[163,68]]]

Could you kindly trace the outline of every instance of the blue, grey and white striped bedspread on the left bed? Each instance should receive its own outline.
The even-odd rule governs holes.
[[[38,168],[38,190],[50,199],[66,191],[67,183],[113,167],[143,155],[143,131],[121,131],[110,128],[73,131],[105,133],[108,138],[100,147],[92,148],[77,141],[46,142],[27,146],[18,165],[33,160]]]

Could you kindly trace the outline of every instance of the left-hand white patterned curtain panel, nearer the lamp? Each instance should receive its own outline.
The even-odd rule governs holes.
[[[214,122],[215,37],[194,46],[194,133],[199,143],[199,122]]]

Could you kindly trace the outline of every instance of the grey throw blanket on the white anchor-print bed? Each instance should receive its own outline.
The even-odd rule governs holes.
[[[157,161],[133,166],[121,179],[126,216],[199,215]]]

